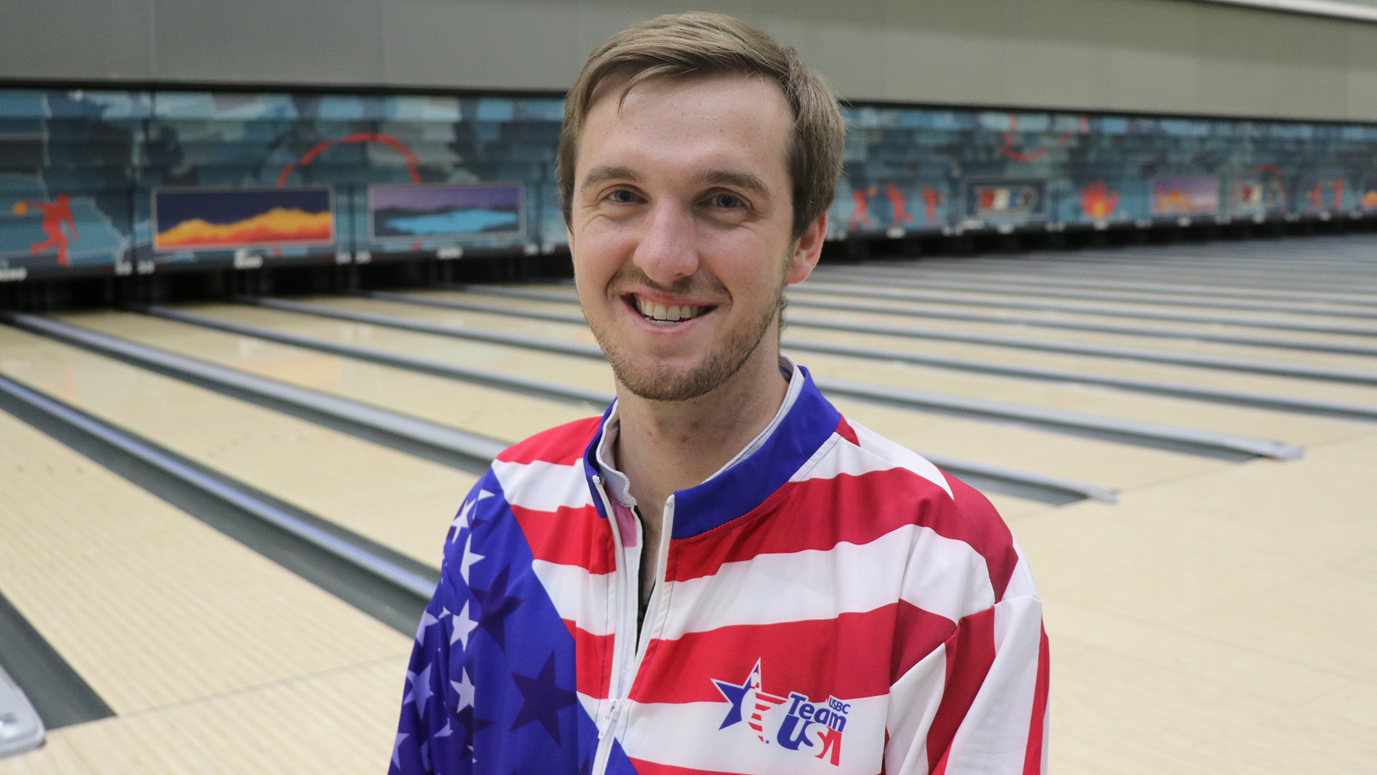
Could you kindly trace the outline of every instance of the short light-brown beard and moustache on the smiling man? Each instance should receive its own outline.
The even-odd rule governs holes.
[[[618,273],[618,277],[613,279],[611,285],[617,287],[617,281],[622,279],[650,287],[658,285],[635,268],[625,274]],[[665,290],[668,292],[693,295],[691,287],[691,279],[686,277],[682,284],[675,283]],[[592,324],[589,324],[589,328],[592,328],[593,338],[598,339],[603,354],[607,356],[607,363],[611,364],[611,371],[617,376],[617,381],[628,390],[651,401],[687,401],[716,390],[741,371],[741,367],[760,348],[760,342],[764,341],[771,323],[778,320],[781,328],[784,327],[784,309],[788,303],[784,295],[785,287],[786,283],[781,277],[771,303],[761,308],[760,314],[755,320],[746,320],[735,330],[728,331],[724,342],[715,346],[708,353],[708,357],[687,371],[664,367],[647,368],[643,363],[638,363],[638,359],[618,350],[609,331],[599,330],[600,327]]]

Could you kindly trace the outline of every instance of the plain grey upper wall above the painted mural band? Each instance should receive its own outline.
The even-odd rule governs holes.
[[[3,0],[0,77],[563,90],[599,0]],[[1377,25],[1186,0],[741,0],[851,99],[1377,121]]]

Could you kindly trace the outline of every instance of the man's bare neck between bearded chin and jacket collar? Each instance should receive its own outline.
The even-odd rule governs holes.
[[[653,401],[618,385],[617,467],[642,513],[658,523],[665,499],[727,465],[770,425],[788,392],[772,334],[737,374],[697,399]]]

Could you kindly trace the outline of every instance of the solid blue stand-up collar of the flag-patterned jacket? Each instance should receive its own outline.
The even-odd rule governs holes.
[[[701,535],[760,506],[832,437],[841,422],[841,414],[822,397],[808,370],[797,368],[803,371],[803,390],[764,444],[708,481],[675,492],[672,538]],[[613,407],[607,407],[603,412],[598,434],[584,448],[584,474],[589,488],[593,488],[592,477],[598,474],[595,455],[611,410]],[[593,503],[606,519],[596,488]]]

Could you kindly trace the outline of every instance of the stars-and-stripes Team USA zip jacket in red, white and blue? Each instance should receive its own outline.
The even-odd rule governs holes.
[[[392,774],[1042,774],[1041,603],[990,502],[797,368],[759,447],[639,523],[602,418],[503,452],[446,536]]]

